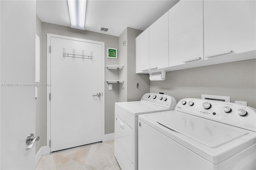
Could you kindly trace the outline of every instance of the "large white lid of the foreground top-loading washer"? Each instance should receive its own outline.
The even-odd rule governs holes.
[[[164,112],[147,117],[211,148],[217,148],[249,133],[247,130],[181,112]]]

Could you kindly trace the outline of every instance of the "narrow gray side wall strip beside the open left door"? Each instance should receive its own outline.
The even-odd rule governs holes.
[[[36,15],[36,34],[40,38],[40,44],[42,44],[42,22]],[[40,49],[40,56],[42,54],[42,50]],[[40,60],[42,60],[42,57],[40,57]],[[42,67],[42,62],[40,61],[40,68]],[[41,74],[42,71],[40,71],[40,82],[41,80]],[[45,137],[46,136],[46,130],[44,129],[44,115],[42,113],[43,110],[43,105],[42,105],[42,88],[41,86],[37,87],[37,99],[36,99],[36,136],[40,136],[40,140],[36,142],[36,153],[38,150],[42,147],[45,146]],[[43,139],[43,140],[42,140]]]

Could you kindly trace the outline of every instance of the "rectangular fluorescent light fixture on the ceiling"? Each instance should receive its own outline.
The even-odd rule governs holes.
[[[86,0],[68,0],[71,28],[84,30]]]

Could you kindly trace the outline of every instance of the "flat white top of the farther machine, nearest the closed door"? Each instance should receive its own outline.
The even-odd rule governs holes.
[[[146,113],[174,110],[173,108],[167,109],[165,107],[153,105],[143,101],[118,102],[115,105],[124,109],[133,116],[138,116]]]

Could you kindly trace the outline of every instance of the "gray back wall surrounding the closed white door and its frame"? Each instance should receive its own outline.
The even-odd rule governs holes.
[[[118,59],[107,58],[107,47],[118,48],[118,37],[110,36],[106,34],[100,34],[96,32],[76,30],[73,28],[59,26],[55,24],[49,24],[42,22],[42,38],[41,38],[41,68],[40,68],[40,81],[46,83],[46,34],[58,34],[62,36],[70,36],[75,38],[83,38],[87,40],[94,40],[99,42],[105,42],[105,65],[118,64]],[[118,77],[116,70],[108,70],[105,68],[105,79],[115,79]],[[113,85],[113,90],[108,90],[108,84],[105,82],[105,134],[114,132],[114,103],[118,102],[118,87],[116,84]],[[41,146],[46,146],[46,88],[42,87],[41,96],[41,115],[40,119],[37,119],[41,129],[38,131],[42,132],[40,140],[42,140]],[[38,117],[39,118],[39,117]],[[41,121],[41,122],[40,122]],[[40,122],[40,123],[39,123]]]

